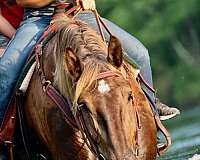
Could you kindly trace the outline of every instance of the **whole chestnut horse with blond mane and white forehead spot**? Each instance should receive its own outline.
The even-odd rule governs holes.
[[[56,34],[40,59],[43,71],[62,96],[69,97],[74,115],[81,108],[98,159],[156,159],[154,114],[136,80],[138,71],[122,58],[119,40],[111,36],[107,46],[87,24],[64,16],[53,25]],[[43,91],[37,72],[26,94],[25,117],[51,159],[97,159],[87,134],[66,122]]]

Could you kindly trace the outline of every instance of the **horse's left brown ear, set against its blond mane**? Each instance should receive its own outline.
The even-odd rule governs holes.
[[[64,54],[64,65],[71,78],[77,81],[82,73],[81,62],[71,48],[66,49]]]

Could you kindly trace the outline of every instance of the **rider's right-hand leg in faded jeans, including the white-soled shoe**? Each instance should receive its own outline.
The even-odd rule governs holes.
[[[78,19],[85,21],[88,23],[92,28],[98,31],[98,26],[95,21],[95,16],[92,14],[92,12],[83,12],[77,16]],[[128,32],[122,30],[117,25],[113,24],[112,22],[104,19],[104,22],[108,26],[108,28],[111,30],[112,34],[118,37],[122,43],[123,49],[125,52],[136,61],[136,63],[140,66],[140,72],[141,75],[144,77],[145,81],[153,86],[152,81],[152,71],[151,71],[151,65],[150,65],[150,58],[148,54],[148,50],[143,46],[143,44],[137,40],[135,37],[130,35]],[[105,38],[109,39],[109,34],[104,30]],[[155,101],[154,94],[144,88],[145,91],[148,93],[150,98]],[[163,114],[164,119],[172,118],[176,114],[179,114],[179,111],[176,108],[170,108],[167,105],[162,104],[161,102],[156,104],[158,110],[164,109],[163,112],[160,112]]]

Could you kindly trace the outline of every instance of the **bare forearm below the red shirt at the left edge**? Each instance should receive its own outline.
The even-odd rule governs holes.
[[[12,38],[15,34],[15,28],[0,14],[0,32],[7,36],[8,38]]]

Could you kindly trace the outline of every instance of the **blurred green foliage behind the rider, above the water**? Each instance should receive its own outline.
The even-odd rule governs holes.
[[[161,99],[200,101],[199,0],[96,0],[101,15],[148,48]]]

